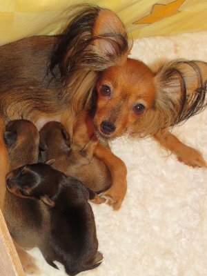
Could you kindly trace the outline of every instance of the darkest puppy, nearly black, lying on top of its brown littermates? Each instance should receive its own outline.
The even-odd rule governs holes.
[[[57,260],[73,276],[99,266],[103,255],[97,251],[88,189],[77,179],[49,166],[50,162],[12,170],[6,177],[7,187],[19,197],[41,199],[51,206],[51,233],[43,256],[55,268],[53,261]]]

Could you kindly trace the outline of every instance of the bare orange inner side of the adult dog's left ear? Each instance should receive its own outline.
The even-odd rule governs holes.
[[[99,12],[93,28],[93,36],[97,38],[94,43],[101,55],[114,55],[119,52],[117,47],[128,43],[124,24],[111,10],[103,9]]]

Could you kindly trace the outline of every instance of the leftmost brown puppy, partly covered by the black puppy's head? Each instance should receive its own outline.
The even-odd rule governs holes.
[[[38,161],[39,132],[30,121],[10,121],[3,137],[8,149],[10,170]],[[43,249],[50,230],[50,213],[43,202],[37,199],[22,199],[6,191],[5,218],[10,235],[17,242],[14,242],[14,245],[21,262],[27,253],[19,246],[38,246]],[[31,264],[31,269],[33,267]]]

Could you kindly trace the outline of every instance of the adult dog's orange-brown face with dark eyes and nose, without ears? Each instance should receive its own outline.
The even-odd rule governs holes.
[[[141,61],[127,59],[102,73],[97,95],[94,123],[98,135],[118,137],[155,110],[155,75]]]

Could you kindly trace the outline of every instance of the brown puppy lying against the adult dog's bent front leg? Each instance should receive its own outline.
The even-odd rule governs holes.
[[[55,158],[53,168],[79,179],[95,193],[102,193],[110,188],[112,179],[108,167],[93,152],[97,141],[92,140],[82,150],[70,148],[70,136],[57,121],[48,122],[39,132],[47,150],[41,152],[41,161]]]

